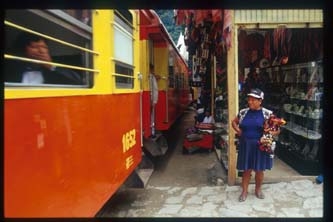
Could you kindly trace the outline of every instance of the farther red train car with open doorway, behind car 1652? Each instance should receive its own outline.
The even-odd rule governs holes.
[[[140,58],[143,73],[143,146],[153,156],[168,149],[164,133],[190,104],[188,66],[153,10],[140,10]],[[154,76],[151,75],[153,67]],[[158,98],[154,105],[153,81]]]

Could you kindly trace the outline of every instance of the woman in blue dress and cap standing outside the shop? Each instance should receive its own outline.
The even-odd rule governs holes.
[[[247,94],[248,108],[239,111],[232,120],[232,127],[239,136],[239,151],[237,156],[237,169],[243,171],[242,193],[239,201],[245,201],[252,170],[255,171],[255,195],[259,199],[265,196],[261,190],[264,179],[264,170],[271,169],[273,159],[269,154],[259,149],[259,141],[263,136],[263,125],[273,112],[261,106],[264,93],[260,89],[252,89]],[[271,132],[277,135],[279,131]]]

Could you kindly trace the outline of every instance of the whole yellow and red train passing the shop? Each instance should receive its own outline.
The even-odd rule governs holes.
[[[82,78],[25,83],[5,69],[4,216],[93,217],[138,170],[143,151],[165,153],[163,132],[191,102],[187,64],[153,10],[15,9],[4,24],[5,67],[45,63],[10,50],[29,32],[48,40],[46,63]]]

